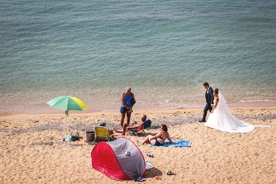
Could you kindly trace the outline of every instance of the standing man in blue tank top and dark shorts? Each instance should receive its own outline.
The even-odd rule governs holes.
[[[130,116],[132,113],[132,107],[135,104],[134,94],[131,92],[131,87],[127,87],[121,94],[121,128],[123,128],[125,113],[127,114],[127,124],[130,122]]]

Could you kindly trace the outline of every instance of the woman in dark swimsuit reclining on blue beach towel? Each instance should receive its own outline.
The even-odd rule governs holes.
[[[155,136],[148,135],[142,141],[140,141],[140,143],[145,144],[149,142],[154,146],[161,146],[165,142],[165,140],[168,139],[171,142],[171,144],[175,144],[172,142],[169,132],[167,131],[168,131],[167,126],[161,125],[160,131],[156,133]]]

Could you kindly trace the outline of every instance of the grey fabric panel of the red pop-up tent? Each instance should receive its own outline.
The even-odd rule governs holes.
[[[124,173],[130,178],[140,177],[145,170],[145,160],[140,150],[125,137],[116,141],[106,142],[113,149],[118,163]],[[129,151],[128,156],[125,155]]]

